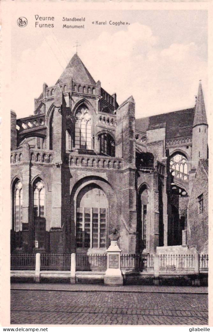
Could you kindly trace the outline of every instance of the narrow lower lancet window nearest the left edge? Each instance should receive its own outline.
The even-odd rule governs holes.
[[[18,181],[15,186],[15,233],[16,233],[16,248],[22,247],[22,201],[23,201],[23,191],[22,183]]]

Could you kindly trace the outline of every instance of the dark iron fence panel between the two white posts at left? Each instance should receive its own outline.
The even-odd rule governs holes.
[[[70,254],[44,254],[40,256],[41,271],[70,271]]]

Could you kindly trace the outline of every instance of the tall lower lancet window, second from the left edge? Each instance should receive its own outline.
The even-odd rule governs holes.
[[[45,186],[41,179],[33,185],[33,228],[34,247],[44,248],[45,245]]]

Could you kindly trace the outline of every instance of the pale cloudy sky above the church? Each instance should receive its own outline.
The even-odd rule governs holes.
[[[55,27],[35,28],[35,14],[53,15]],[[206,11],[42,10],[28,14],[25,28],[18,27],[17,15],[10,100],[17,118],[33,115],[34,98],[44,82],[56,83],[75,53],[76,40],[81,60],[108,93],[116,92],[118,104],[133,96],[136,118],[193,107],[200,79],[207,106]],[[85,29],[63,29],[63,16],[85,17]],[[96,20],[129,24],[93,25]]]

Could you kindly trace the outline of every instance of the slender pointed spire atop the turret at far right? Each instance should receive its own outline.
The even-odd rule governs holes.
[[[193,127],[198,124],[207,124],[206,110],[205,110],[205,104],[204,104],[204,99],[203,99],[201,81],[199,81],[199,88],[198,88],[197,100],[196,100],[195,112],[194,112]]]

